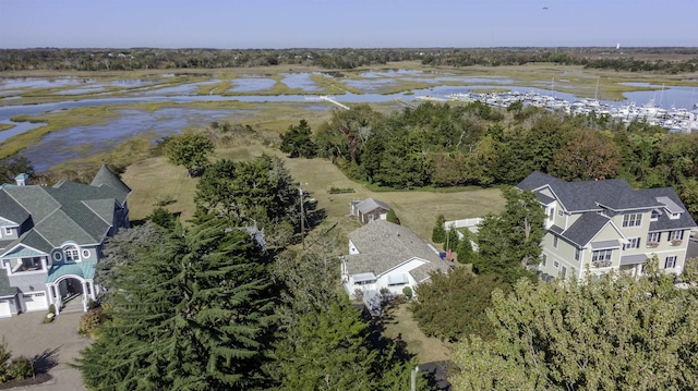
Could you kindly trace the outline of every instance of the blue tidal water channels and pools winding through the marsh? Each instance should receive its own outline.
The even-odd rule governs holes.
[[[364,90],[366,94],[342,94],[336,95],[334,98],[339,102],[359,103],[359,102],[388,102],[396,99],[412,101],[419,96],[434,96],[445,98],[449,94],[469,93],[479,89],[510,89],[520,93],[535,91],[541,95],[555,96],[557,98],[569,101],[579,100],[571,94],[559,93],[555,87],[562,88],[566,86],[566,81],[559,80],[555,83],[540,81],[538,88],[516,87],[516,82],[502,77],[459,77],[454,75],[435,75],[434,73],[423,71],[408,70],[387,70],[380,72],[361,73],[360,80],[351,80],[344,77],[341,73],[323,73],[347,85]],[[302,91],[322,91],[324,88],[316,85],[311,77],[311,73],[285,73],[281,74],[281,83],[289,88],[300,89]],[[147,80],[140,81],[108,81],[99,82],[92,78],[62,77],[62,78],[5,78],[0,80],[0,102],[11,105],[17,100],[14,95],[21,95],[28,89],[36,88],[65,88],[74,86],[74,88],[62,89],[55,94],[65,95],[65,99],[60,102],[43,103],[43,105],[16,105],[0,107],[0,123],[12,123],[15,127],[0,132],[0,142],[12,137],[16,134],[43,126],[41,123],[12,122],[10,118],[19,114],[35,115],[44,112],[52,112],[57,110],[69,110],[80,107],[98,107],[104,105],[130,105],[141,102],[172,102],[172,103],[190,103],[196,101],[245,101],[245,102],[281,102],[294,101],[306,102],[308,110],[333,110],[335,107],[328,102],[310,102],[306,101],[306,95],[284,95],[284,96],[198,96],[198,89],[202,85],[215,85],[222,80],[215,78],[206,82],[188,83],[177,86],[156,85],[158,80],[163,80],[168,75],[148,76]],[[173,76],[173,75],[170,75]],[[246,74],[231,81],[232,87],[230,91],[254,93],[273,88],[276,84],[274,78],[265,74]],[[400,81],[423,82],[433,85],[429,88],[414,89],[410,94],[399,93],[382,95],[378,90],[386,86],[397,85]],[[453,84],[474,84],[470,86],[456,86]],[[637,86],[649,86],[648,84],[631,84]],[[127,91],[127,97],[110,97],[111,94],[107,87],[118,87],[120,93]],[[653,86],[661,88],[662,86]],[[95,93],[89,99],[70,100],[70,95]],[[318,93],[322,94],[322,93]],[[583,90],[579,93],[582,97],[593,97],[593,90]],[[697,87],[678,87],[664,86],[663,90],[653,91],[635,91],[627,93],[626,100],[621,102],[605,101],[612,106],[634,102],[636,105],[646,105],[653,101],[654,105],[664,108],[686,108],[691,109],[698,103],[698,86]],[[53,132],[47,135],[37,145],[27,148],[23,154],[31,157],[36,169],[41,171],[49,167],[73,159],[81,155],[92,155],[108,151],[122,143],[124,139],[136,135],[145,134],[149,139],[158,139],[165,135],[170,135],[181,131],[188,126],[203,126],[210,121],[228,118],[231,114],[242,119],[249,112],[242,110],[197,110],[185,107],[165,108],[154,112],[145,112],[141,110],[120,110],[119,118],[109,120],[104,125],[92,126],[73,126]]]

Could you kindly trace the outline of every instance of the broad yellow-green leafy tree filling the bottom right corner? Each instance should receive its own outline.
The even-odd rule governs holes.
[[[454,390],[693,390],[698,305],[659,271],[568,283],[520,280],[495,291],[494,340],[472,337],[452,359]]]

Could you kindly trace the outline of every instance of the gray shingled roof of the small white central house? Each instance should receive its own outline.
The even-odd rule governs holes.
[[[426,261],[419,270],[410,271],[417,281],[423,281],[430,272],[448,270],[448,265],[424,241],[402,225],[373,220],[348,237],[360,253],[345,256],[349,274],[372,272],[377,277],[412,258]]]

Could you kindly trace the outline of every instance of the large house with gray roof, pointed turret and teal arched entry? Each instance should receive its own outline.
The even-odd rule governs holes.
[[[69,301],[87,310],[103,245],[129,228],[131,190],[105,166],[89,185],[15,180],[0,186],[0,317],[51,304],[60,313]]]

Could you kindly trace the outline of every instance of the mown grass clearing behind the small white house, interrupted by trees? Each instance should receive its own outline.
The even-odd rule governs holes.
[[[277,150],[260,144],[218,149],[216,158],[245,160],[262,154],[284,159],[291,175],[311,197],[317,199],[320,208],[327,211],[327,220],[338,222],[345,232],[354,229],[356,222],[347,217],[351,200],[374,197],[390,205],[402,225],[412,229],[420,237],[431,239],[438,215],[447,220],[483,216],[504,207],[497,188],[466,190],[461,192],[372,192],[361,183],[348,179],[337,167],[324,159],[288,159]],[[186,176],[186,170],[169,164],[164,157],[151,158],[130,166],[122,175],[133,188],[129,198],[131,219],[143,219],[154,207],[158,197],[171,196],[177,201],[168,206],[172,212],[181,213],[183,221],[192,217],[196,179]],[[353,188],[354,193],[329,194],[330,187]]]

